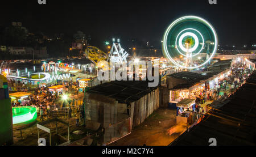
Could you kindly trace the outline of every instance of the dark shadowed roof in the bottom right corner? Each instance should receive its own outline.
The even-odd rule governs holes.
[[[230,101],[221,108],[212,109],[204,120],[185,131],[170,145],[210,145],[209,138],[216,138],[220,145],[256,144],[256,73],[254,72]]]

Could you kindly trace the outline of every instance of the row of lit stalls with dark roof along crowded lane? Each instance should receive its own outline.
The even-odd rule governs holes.
[[[167,84],[169,94],[168,108],[177,109],[177,123],[192,123],[200,118],[200,114],[195,114],[195,100],[197,95],[203,95],[207,89],[216,89],[222,79],[230,75],[230,69],[220,73],[191,73],[183,71],[168,75]]]

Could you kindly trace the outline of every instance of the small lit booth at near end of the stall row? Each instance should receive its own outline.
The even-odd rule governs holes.
[[[195,111],[195,104],[196,104],[195,99],[184,99],[176,104],[176,106],[177,106],[177,116],[176,116],[177,124],[190,123],[192,113]]]

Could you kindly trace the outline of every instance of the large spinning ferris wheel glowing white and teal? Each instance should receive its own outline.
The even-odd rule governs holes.
[[[162,50],[174,65],[197,69],[209,63],[217,46],[216,31],[207,20],[197,16],[184,16],[166,29]]]

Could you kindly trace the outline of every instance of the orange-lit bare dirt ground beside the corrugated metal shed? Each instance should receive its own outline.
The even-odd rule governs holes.
[[[176,110],[160,108],[135,127],[130,135],[111,143],[110,146],[167,146],[186,129],[185,126],[179,126],[179,129],[168,135],[168,129],[173,127],[176,127]]]

